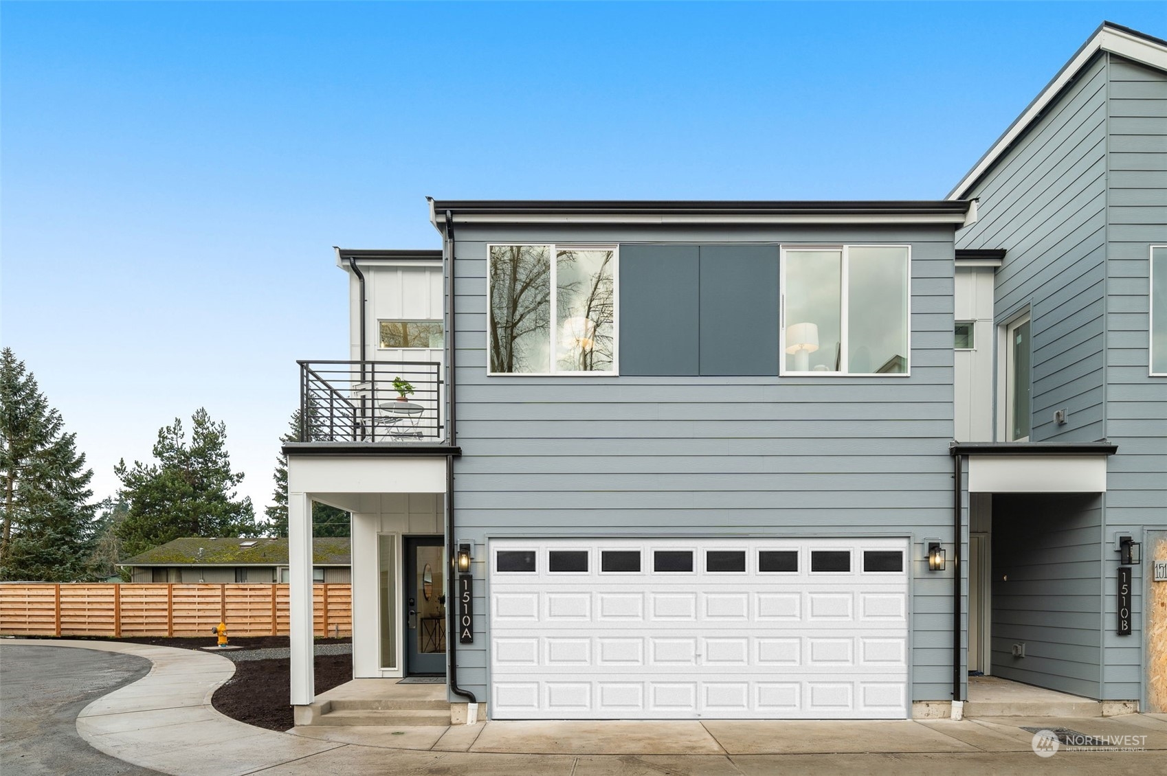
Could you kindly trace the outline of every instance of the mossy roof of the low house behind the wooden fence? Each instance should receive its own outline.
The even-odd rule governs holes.
[[[252,546],[243,546],[254,543]],[[348,566],[349,540],[312,540],[312,562],[317,566]],[[235,537],[182,537],[119,561],[120,566],[287,566],[287,539],[239,539]]]

